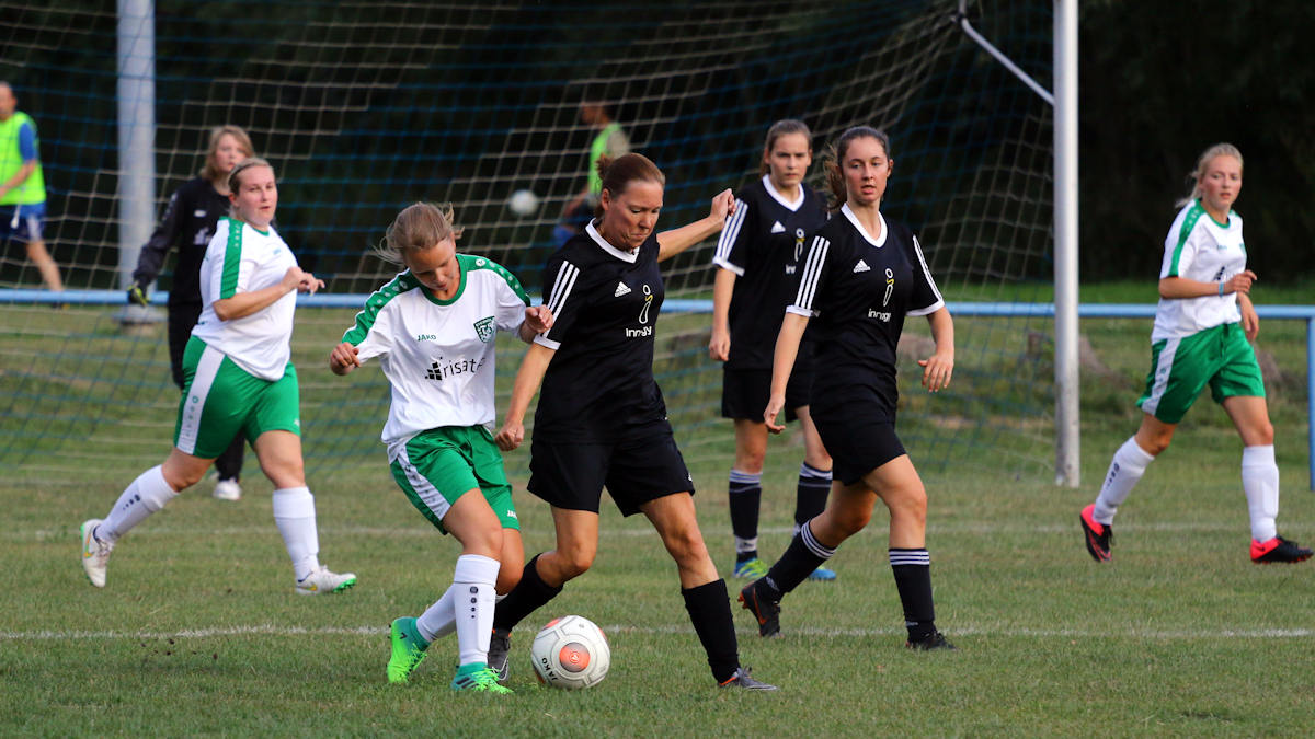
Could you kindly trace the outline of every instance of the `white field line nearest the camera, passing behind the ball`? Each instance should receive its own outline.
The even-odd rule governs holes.
[[[689,625],[667,626],[627,626],[613,623],[602,627],[604,631],[614,634],[690,634]],[[792,627],[786,630],[789,635],[817,636],[817,638],[864,638],[864,636],[893,636],[903,635],[903,629],[818,629],[818,627]],[[742,636],[751,638],[755,629],[736,629]],[[0,642],[47,642],[47,640],[103,640],[103,639],[213,639],[220,636],[302,636],[302,635],[348,635],[348,636],[384,636],[388,629],[383,626],[320,626],[304,629],[300,626],[279,626],[272,623],[254,626],[217,626],[212,629],[185,629],[181,631],[0,631]],[[1105,639],[1105,638],[1134,638],[1149,640],[1174,639],[1310,639],[1315,638],[1315,629],[1252,629],[1252,630],[1120,630],[1118,634],[1106,631],[1089,631],[1082,629],[1026,629],[1009,625],[998,626],[955,626],[949,631],[951,636],[1028,636],[1028,638],[1057,638],[1057,639]]]

